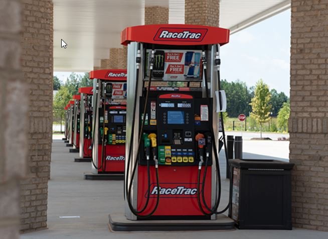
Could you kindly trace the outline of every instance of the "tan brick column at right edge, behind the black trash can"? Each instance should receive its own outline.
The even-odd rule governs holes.
[[[328,231],[327,2],[291,0],[292,222]]]

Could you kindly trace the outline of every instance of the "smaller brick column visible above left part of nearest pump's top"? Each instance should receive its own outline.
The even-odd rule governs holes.
[[[167,24],[169,23],[169,7],[146,6],[144,8],[144,24]]]

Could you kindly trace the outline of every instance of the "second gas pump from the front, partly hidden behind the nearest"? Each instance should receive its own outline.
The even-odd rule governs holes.
[[[126,134],[126,70],[90,72],[93,79],[92,174],[86,179],[123,179]]]

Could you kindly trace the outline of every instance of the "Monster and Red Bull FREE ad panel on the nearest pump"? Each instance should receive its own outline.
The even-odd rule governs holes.
[[[146,76],[149,76],[150,50],[145,59]],[[177,81],[201,79],[201,50],[155,50],[152,77]]]

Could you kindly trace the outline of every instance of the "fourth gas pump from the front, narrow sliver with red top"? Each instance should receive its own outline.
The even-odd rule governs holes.
[[[80,149],[80,94],[74,94],[74,105],[73,105],[73,148],[70,152],[79,152]]]

